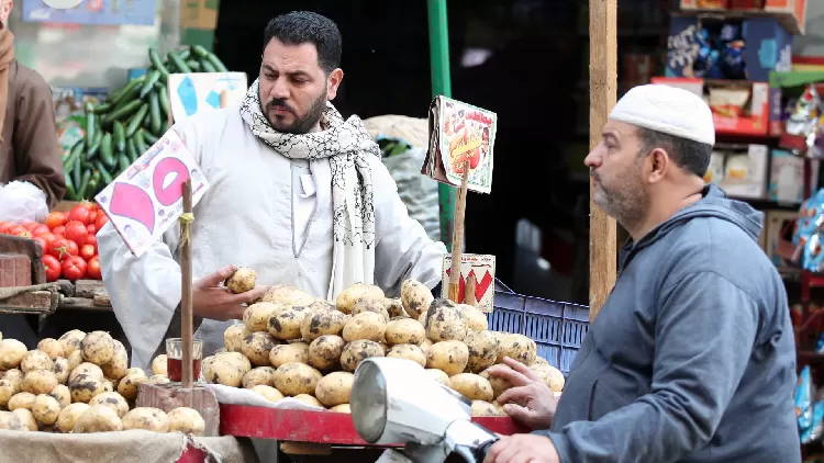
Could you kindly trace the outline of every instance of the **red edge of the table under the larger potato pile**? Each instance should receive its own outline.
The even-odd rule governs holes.
[[[349,414],[220,405],[220,432],[255,439],[369,445],[358,436]],[[472,421],[503,436],[530,432],[509,417],[475,417]]]

